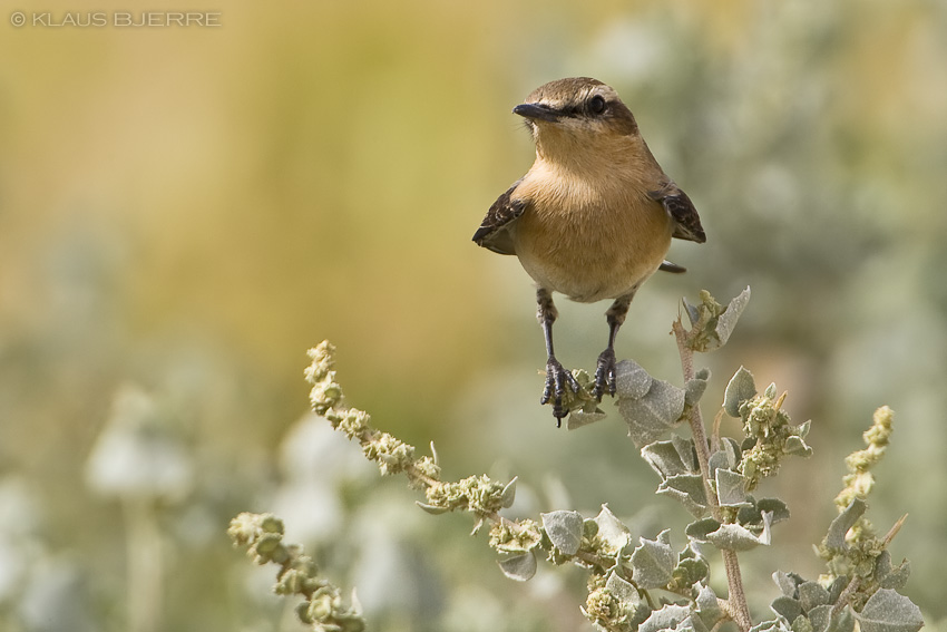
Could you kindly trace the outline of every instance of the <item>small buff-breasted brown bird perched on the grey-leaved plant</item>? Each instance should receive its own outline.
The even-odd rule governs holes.
[[[706,235],[693,202],[657,164],[611,86],[590,77],[558,79],[536,88],[512,114],[525,119],[536,161],[489,207],[473,242],[517,256],[536,284],[547,357],[539,402],[553,402],[562,426],[569,412],[565,389],[580,387],[554,351],[553,294],[613,301],[593,395],[614,397],[615,338],[632,299],[657,270],[685,271],[664,259],[672,237],[704,243]]]

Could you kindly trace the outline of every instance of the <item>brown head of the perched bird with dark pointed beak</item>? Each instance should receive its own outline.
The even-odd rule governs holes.
[[[526,119],[537,150],[545,155],[593,149],[638,134],[635,117],[617,93],[589,77],[539,86],[512,111]]]

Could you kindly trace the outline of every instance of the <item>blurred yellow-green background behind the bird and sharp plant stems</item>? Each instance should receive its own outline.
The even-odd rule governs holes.
[[[709,237],[672,246],[689,273],[638,293],[618,356],[680,383],[681,296],[750,285],[730,344],[699,358],[705,416],[744,364],[812,419],[816,455],[760,490],[793,518],[742,557],[755,618],[774,570],[821,572],[842,458],[885,403],[871,516],[910,514],[892,556],[947,618],[947,4],[149,10],[221,26],[79,26],[140,19],[114,1],[0,16],[0,628],[300,630],[224,533],[274,511],[373,630],[590,630],[579,570],[504,578],[467,516],[418,511],[306,417],[302,379],[331,339],[351,405],[433,441],[447,478],[519,476],[524,515],[686,524],[611,402],[555,429],[529,279],[470,242],[533,161],[510,109],[577,75],[618,90]],[[607,304],[559,307],[560,359],[593,369]]]

